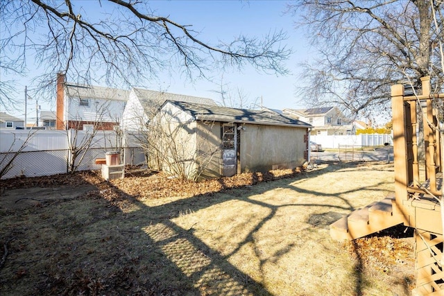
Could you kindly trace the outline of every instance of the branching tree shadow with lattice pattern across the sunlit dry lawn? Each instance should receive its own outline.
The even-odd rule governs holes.
[[[300,178],[309,177],[309,175],[300,175]],[[253,184],[266,180],[274,180],[273,175],[253,173]],[[290,180],[293,182],[293,180]],[[139,223],[149,225],[144,227],[144,233],[151,239],[151,244],[155,246],[158,252],[161,252],[166,256],[171,265],[176,267],[176,273],[180,274],[180,278],[186,278],[187,281],[191,281],[193,286],[197,290],[205,288],[210,294],[216,295],[271,295],[266,287],[259,281],[251,279],[251,277],[242,272],[236,266],[232,265],[228,261],[230,256],[240,252],[245,245],[253,245],[255,256],[259,260],[259,272],[264,277],[264,265],[268,262],[275,262],[281,256],[290,252],[293,245],[284,245],[279,250],[275,251],[273,256],[269,258],[262,258],[259,248],[257,247],[257,241],[255,234],[259,232],[264,225],[274,218],[279,209],[284,207],[325,207],[327,209],[339,209],[341,211],[353,211],[355,208],[350,202],[343,198],[341,195],[346,195],[348,191],[343,191],[334,196],[335,199],[339,199],[345,203],[344,206],[338,206],[334,204],[298,204],[289,203],[282,205],[273,205],[259,200],[253,200],[250,197],[264,193],[262,191],[255,191],[254,193],[247,193],[241,195],[233,195],[230,192],[229,186],[223,184],[223,180],[219,180],[222,183],[224,195],[218,195],[216,198],[209,198],[206,195],[198,195],[192,198],[186,198],[184,200],[177,200],[169,202],[167,204],[160,204],[155,207],[147,207],[142,202],[139,202],[137,198],[133,196],[127,196],[133,204],[137,204],[139,208],[136,212],[132,212],[132,219],[138,220]],[[284,182],[281,188],[291,189],[298,193],[325,195],[331,196],[330,193],[322,193],[320,191],[306,191],[291,185],[291,182]],[[112,187],[114,191],[119,191],[117,187]],[[267,189],[268,190],[268,189]],[[355,191],[356,189],[353,189]],[[120,195],[121,193],[119,193]],[[268,209],[268,214],[262,217],[253,227],[250,229],[245,238],[237,243],[231,252],[227,254],[220,254],[212,248],[211,245],[203,242],[200,238],[193,234],[194,229],[191,226],[189,229],[184,229],[173,222],[174,218],[180,217],[182,214],[193,213],[201,209],[212,207],[215,204],[221,204],[223,202],[239,200],[242,202],[248,202],[252,206],[257,205]],[[355,268],[355,281],[356,281],[356,293],[361,295],[362,292],[362,266],[359,267],[359,260],[357,261],[357,267]],[[214,279],[218,279],[215,281]],[[163,280],[167,280],[165,277]]]

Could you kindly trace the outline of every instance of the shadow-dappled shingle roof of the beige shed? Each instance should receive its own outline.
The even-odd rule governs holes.
[[[262,125],[289,125],[310,128],[309,123],[266,110],[248,110],[218,105],[205,105],[189,102],[168,101],[188,112],[197,121],[219,121],[234,123],[255,123]]]

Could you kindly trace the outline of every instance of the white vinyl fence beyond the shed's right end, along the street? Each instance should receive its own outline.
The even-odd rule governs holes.
[[[321,144],[323,148],[339,148],[339,145],[355,147],[384,146],[385,143],[393,146],[393,137],[391,134],[316,135],[310,136],[310,141]]]

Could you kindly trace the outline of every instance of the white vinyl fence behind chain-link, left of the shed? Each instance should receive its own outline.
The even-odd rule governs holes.
[[[25,176],[37,177],[68,173],[69,141],[77,144],[90,137],[87,131],[62,130],[0,130],[0,171],[12,160],[10,170],[2,179]],[[123,139],[123,140],[122,140]],[[121,152],[121,161],[127,165],[145,163],[145,155],[135,141],[125,145],[125,137],[114,131],[100,131],[94,135],[83,159],[76,159],[78,171],[100,169],[96,158],[105,158],[107,151]],[[23,146],[23,147],[22,147]],[[17,153],[20,151],[19,153]]]

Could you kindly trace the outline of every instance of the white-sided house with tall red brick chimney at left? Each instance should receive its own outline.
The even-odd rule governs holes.
[[[74,85],[57,78],[56,129],[113,130],[119,125],[128,90]]]

